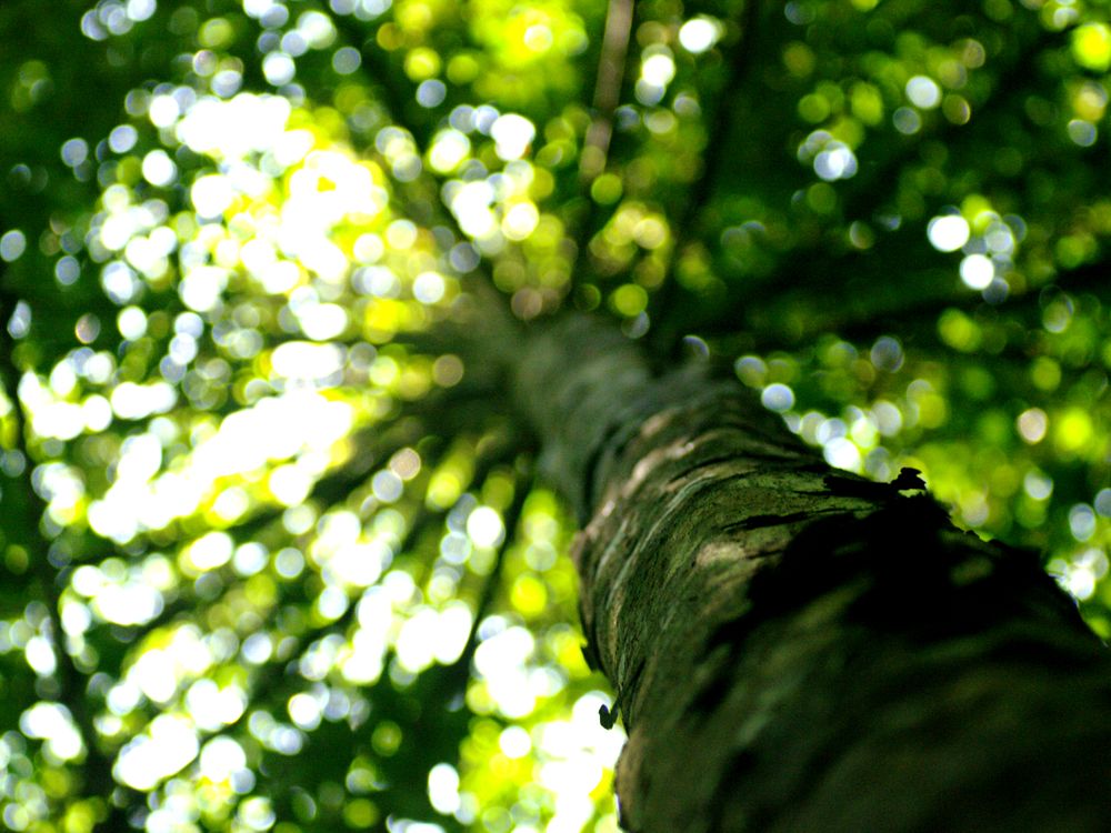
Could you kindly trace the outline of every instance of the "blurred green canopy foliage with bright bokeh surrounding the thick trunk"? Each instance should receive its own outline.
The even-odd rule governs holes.
[[[615,830],[494,355],[561,308],[1111,634],[1109,17],[0,4],[2,823]]]

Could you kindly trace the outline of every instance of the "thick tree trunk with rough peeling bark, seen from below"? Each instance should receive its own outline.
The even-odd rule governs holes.
[[[628,830],[1111,829],[1107,655],[1035,555],[954,529],[910,470],[829,469],[735,383],[653,378],[595,322],[520,368],[585,522]]]

